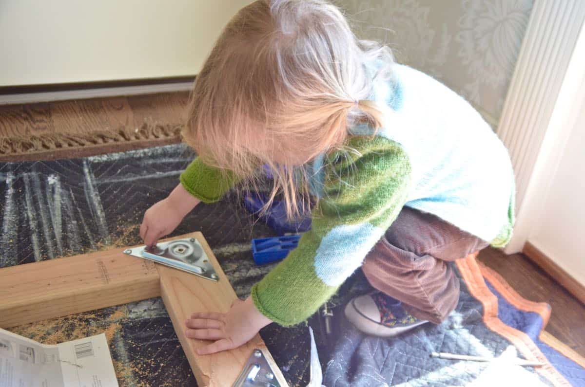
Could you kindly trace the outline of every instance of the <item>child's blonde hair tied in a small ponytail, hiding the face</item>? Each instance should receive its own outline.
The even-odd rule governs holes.
[[[198,74],[184,139],[204,163],[254,188],[270,167],[266,208],[281,193],[294,217],[310,201],[302,165],[343,147],[357,123],[383,126],[383,108],[367,98],[391,62],[390,50],[357,40],[326,1],[255,1],[230,20]]]

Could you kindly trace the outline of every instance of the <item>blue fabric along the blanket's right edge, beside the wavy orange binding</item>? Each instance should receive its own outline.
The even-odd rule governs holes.
[[[526,333],[536,343],[550,364],[558,369],[573,386],[585,386],[585,368],[539,340],[538,336],[543,326],[542,317],[538,313],[523,312],[517,309],[498,293],[489,281],[486,280],[486,284],[498,298],[498,317],[500,320],[504,324]]]

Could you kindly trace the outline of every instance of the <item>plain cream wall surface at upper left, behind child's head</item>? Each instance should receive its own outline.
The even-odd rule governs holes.
[[[1,0],[0,86],[196,74],[248,0]]]

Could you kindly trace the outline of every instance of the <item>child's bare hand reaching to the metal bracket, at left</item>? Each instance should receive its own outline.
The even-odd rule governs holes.
[[[155,203],[144,213],[144,219],[140,225],[140,237],[146,246],[154,246],[157,241],[172,233],[181,220],[195,206],[199,200],[185,191],[179,184],[166,199]]]

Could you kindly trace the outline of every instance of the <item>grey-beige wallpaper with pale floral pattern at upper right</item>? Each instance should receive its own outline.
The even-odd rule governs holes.
[[[441,80],[497,125],[534,0],[336,4],[358,36],[387,43],[398,62]]]

